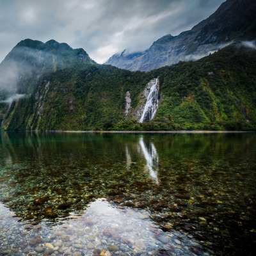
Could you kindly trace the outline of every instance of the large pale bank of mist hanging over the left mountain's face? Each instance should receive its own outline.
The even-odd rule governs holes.
[[[31,47],[14,47],[0,64],[0,103],[11,103],[32,93],[52,54]]]

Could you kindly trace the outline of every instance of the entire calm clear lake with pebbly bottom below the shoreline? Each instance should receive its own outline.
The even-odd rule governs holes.
[[[255,133],[0,135],[0,255],[256,253]]]

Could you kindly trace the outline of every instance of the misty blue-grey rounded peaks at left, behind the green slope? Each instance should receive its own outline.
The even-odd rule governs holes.
[[[95,63],[83,49],[72,49],[65,43],[22,40],[0,64],[0,92],[31,93],[43,74],[80,62]]]

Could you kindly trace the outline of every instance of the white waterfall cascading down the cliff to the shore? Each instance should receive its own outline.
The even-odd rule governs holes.
[[[140,118],[140,123],[143,123],[147,120],[152,120],[154,118],[154,115],[156,115],[156,111],[158,108],[158,90],[157,90],[157,81],[158,79],[156,78],[156,83],[154,83],[151,88],[150,92],[147,97],[147,102],[145,104],[145,107],[143,109],[143,113]]]

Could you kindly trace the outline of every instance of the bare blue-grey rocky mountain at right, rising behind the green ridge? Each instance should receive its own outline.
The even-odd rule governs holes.
[[[191,30],[178,36],[163,36],[145,52],[115,54],[106,64],[148,71],[179,61],[198,60],[233,42],[256,40],[255,13],[254,0],[227,0]]]

